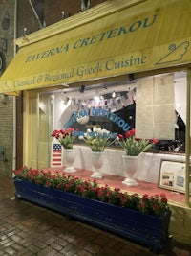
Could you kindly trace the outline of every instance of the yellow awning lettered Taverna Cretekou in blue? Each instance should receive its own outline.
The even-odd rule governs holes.
[[[19,38],[0,93],[189,63],[190,17],[190,0],[105,2]]]

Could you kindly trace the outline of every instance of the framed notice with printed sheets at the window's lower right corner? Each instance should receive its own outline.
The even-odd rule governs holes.
[[[159,187],[185,193],[185,163],[161,160]]]

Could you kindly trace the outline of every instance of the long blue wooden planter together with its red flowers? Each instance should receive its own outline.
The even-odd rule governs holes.
[[[164,194],[128,194],[95,180],[24,167],[14,170],[15,197],[96,224],[123,237],[164,246],[171,212]]]

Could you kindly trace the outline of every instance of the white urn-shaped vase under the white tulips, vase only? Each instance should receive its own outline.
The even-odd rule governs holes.
[[[100,172],[100,169],[104,161],[104,152],[92,151],[92,164],[93,164],[93,178],[102,178],[103,174]]]

